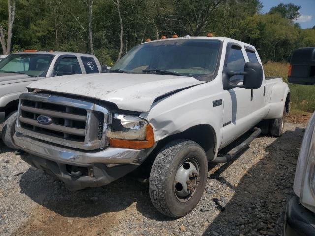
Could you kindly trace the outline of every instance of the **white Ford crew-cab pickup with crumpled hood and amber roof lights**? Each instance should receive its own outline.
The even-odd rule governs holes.
[[[150,171],[154,206],[171,217],[197,205],[208,162],[229,161],[259,135],[258,123],[282,135],[290,101],[282,78],[265,78],[255,47],[224,37],[146,42],[110,73],[28,88],[14,134],[24,161],[72,190],[108,184],[141,165]]]

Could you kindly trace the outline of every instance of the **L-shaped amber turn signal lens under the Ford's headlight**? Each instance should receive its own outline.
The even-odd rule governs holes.
[[[110,146],[114,148],[129,148],[129,149],[146,149],[151,148],[154,145],[153,128],[150,124],[146,127],[146,140],[126,140],[112,138],[109,141]]]

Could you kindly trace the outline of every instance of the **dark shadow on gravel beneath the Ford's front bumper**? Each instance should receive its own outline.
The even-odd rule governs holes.
[[[33,201],[64,217],[93,217],[122,211],[134,202],[148,203],[147,186],[130,175],[103,187],[72,192],[63,182],[30,167],[21,177],[20,188]]]

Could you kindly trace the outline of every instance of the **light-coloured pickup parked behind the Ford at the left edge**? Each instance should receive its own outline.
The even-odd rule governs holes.
[[[55,76],[100,73],[100,70],[98,59],[89,54],[31,49],[3,57],[0,60],[0,123],[6,121],[2,129],[4,143],[16,148],[12,143],[16,111],[19,96],[28,91],[28,84]]]

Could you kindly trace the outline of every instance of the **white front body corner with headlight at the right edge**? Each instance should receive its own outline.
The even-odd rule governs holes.
[[[303,137],[294,179],[294,192],[301,204],[315,212],[315,113]]]

